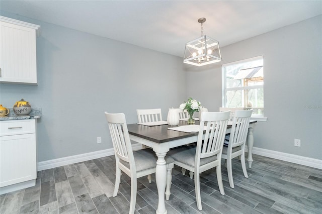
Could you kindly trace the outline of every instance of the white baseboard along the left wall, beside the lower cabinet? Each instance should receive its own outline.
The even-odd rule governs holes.
[[[133,150],[138,150],[142,149],[142,144],[132,144],[132,149]],[[57,158],[53,160],[48,160],[48,161],[41,161],[38,162],[38,171],[42,171],[45,169],[52,169],[55,167],[59,166],[64,166],[68,164],[73,164],[73,163],[79,163],[83,161],[88,161],[88,160],[93,160],[96,158],[102,158],[106,156],[114,155],[114,149],[105,149],[105,150],[100,150],[96,152],[89,152],[85,154],[80,154],[80,155],[72,155],[64,158]]]

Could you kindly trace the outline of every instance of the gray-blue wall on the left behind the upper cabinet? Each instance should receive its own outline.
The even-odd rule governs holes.
[[[37,38],[38,86],[0,84],[0,103],[24,98],[42,108],[38,161],[113,148],[104,112],[168,109],[186,99],[182,58],[60,26],[2,13],[41,25]],[[184,48],[184,47],[183,47]],[[102,137],[102,144],[96,143]]]

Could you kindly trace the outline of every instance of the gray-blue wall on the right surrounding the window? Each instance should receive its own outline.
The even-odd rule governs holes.
[[[255,147],[322,159],[322,16],[221,48],[222,64],[264,56],[264,108]],[[221,106],[221,64],[186,67],[187,94]],[[294,138],[301,147],[294,147]]]

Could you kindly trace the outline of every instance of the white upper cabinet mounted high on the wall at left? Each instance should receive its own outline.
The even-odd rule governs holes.
[[[37,84],[40,26],[0,16],[0,82]]]

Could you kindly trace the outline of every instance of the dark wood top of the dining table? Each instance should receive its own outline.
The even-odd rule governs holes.
[[[251,123],[256,123],[256,121],[251,121]],[[196,121],[196,125],[199,125],[200,122]],[[186,121],[180,121],[179,126],[187,125]],[[179,140],[182,138],[188,138],[197,136],[198,132],[187,133],[187,132],[178,132],[174,130],[169,130],[172,126],[161,125],[161,126],[144,126],[139,124],[128,124],[127,129],[130,135],[134,135],[155,143],[164,143],[174,140]],[[174,126],[176,127],[176,126]],[[231,128],[231,125],[227,126],[227,129]]]

